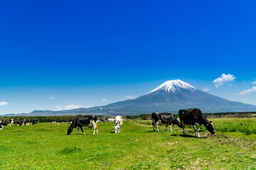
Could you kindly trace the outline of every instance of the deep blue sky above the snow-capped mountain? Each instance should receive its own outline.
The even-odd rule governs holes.
[[[2,0],[0,114],[102,106],[171,79],[256,105],[255,8],[255,1]],[[216,87],[222,74],[231,79]]]

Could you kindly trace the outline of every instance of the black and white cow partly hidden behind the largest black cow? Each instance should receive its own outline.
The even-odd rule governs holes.
[[[167,131],[167,126],[168,125],[170,126],[171,132],[172,132],[171,125],[178,125],[178,127],[182,128],[181,123],[178,122],[178,120],[177,120],[177,118],[175,117],[174,114],[171,114],[171,113],[155,113],[154,112],[154,113],[151,114],[151,117],[152,117],[153,128],[156,127],[157,132],[159,132],[158,126],[157,126],[159,123],[166,125],[166,131]],[[154,132],[155,132],[155,130],[154,130]]]

